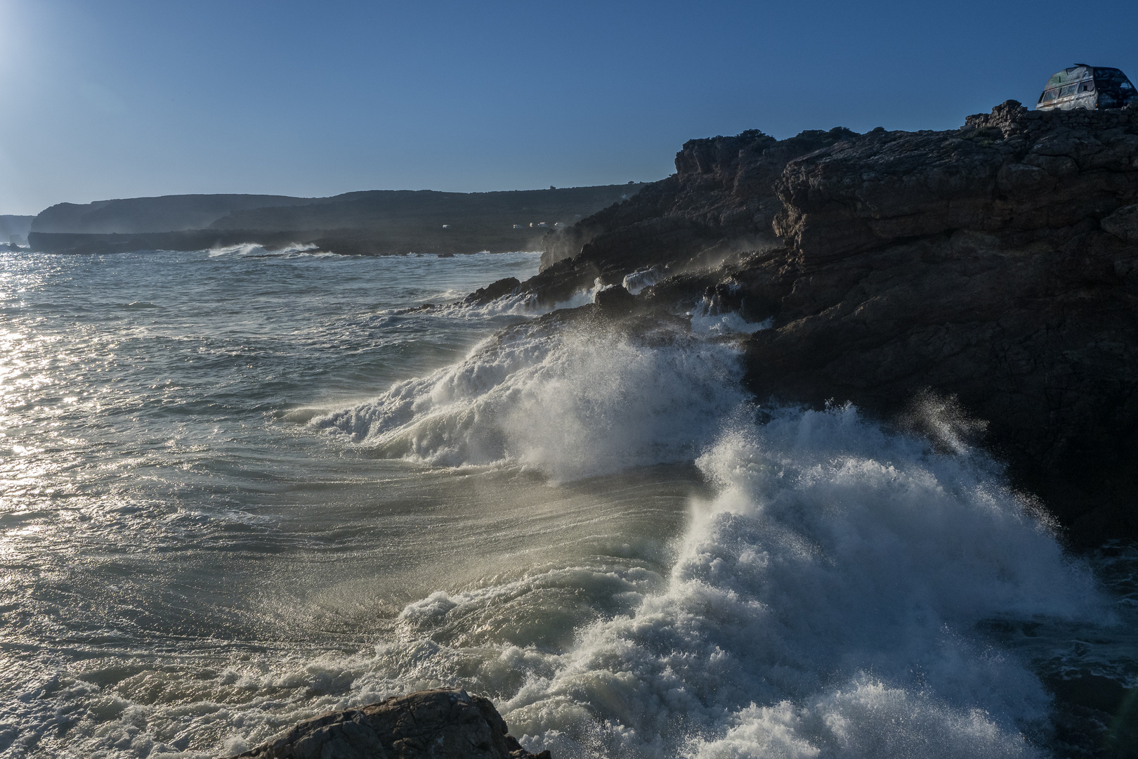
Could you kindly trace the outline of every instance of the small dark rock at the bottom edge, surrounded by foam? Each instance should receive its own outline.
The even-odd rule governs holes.
[[[550,759],[508,735],[489,700],[420,691],[300,723],[248,759]],[[237,758],[234,758],[237,759]]]

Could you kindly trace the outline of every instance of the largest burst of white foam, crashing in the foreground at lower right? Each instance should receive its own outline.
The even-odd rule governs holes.
[[[666,592],[585,629],[508,704],[556,756],[1033,756],[1048,696],[976,632],[1102,621],[1089,574],[975,456],[853,409],[781,412],[700,457]]]

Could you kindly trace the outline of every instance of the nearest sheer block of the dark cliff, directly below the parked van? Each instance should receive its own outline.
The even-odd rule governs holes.
[[[1138,113],[1008,102],[805,156],[776,191],[757,393],[883,415],[956,395],[1075,541],[1138,536]]]

